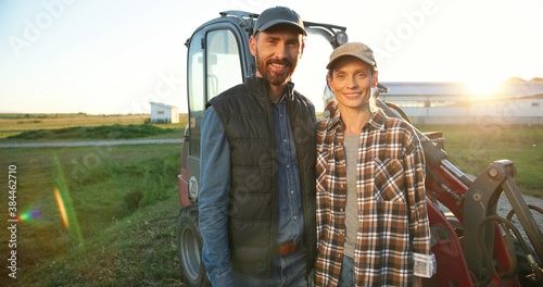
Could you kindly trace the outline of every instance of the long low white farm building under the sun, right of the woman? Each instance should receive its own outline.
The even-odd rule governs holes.
[[[478,97],[462,83],[382,82],[414,124],[543,124],[543,82],[505,82]]]

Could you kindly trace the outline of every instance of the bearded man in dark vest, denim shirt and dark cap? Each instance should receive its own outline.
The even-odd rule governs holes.
[[[256,75],[207,103],[199,195],[213,286],[306,286],[315,261],[315,108],[290,82],[306,32],[292,10],[256,20]]]

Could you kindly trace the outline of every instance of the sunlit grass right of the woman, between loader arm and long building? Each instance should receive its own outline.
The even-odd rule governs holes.
[[[420,132],[444,132],[449,160],[460,171],[479,175],[496,160],[517,167],[515,182],[522,194],[543,198],[543,126],[419,125]]]

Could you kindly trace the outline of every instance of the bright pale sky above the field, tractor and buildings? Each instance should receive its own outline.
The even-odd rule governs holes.
[[[380,82],[464,82],[482,95],[543,77],[541,0],[0,0],[0,113],[149,113],[150,101],[187,112],[192,32],[222,11],[274,5],[346,27],[374,49]],[[305,57],[315,51],[308,42],[294,83],[307,66],[326,72],[331,48]],[[318,111],[321,95],[308,92]]]

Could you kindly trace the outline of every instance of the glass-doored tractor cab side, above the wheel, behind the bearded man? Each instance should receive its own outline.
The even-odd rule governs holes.
[[[181,205],[195,202],[198,198],[200,127],[205,103],[224,90],[243,83],[243,78],[254,66],[248,39],[248,33],[244,29],[236,25],[231,18],[225,17],[201,26],[188,43],[189,123],[185,137],[187,142],[184,144],[184,154],[181,154],[179,180]],[[181,185],[185,186],[181,187]]]

